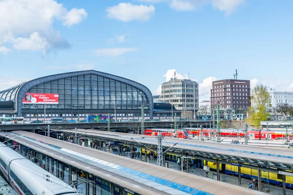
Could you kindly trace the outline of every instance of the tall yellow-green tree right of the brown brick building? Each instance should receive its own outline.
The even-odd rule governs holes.
[[[268,120],[270,116],[268,107],[271,103],[270,94],[266,86],[256,85],[251,93],[251,104],[249,107],[248,122],[255,128],[259,128],[260,121]]]

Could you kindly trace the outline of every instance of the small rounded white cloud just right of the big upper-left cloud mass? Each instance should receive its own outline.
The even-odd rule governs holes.
[[[74,24],[80,23],[87,17],[87,13],[84,9],[73,8],[64,16],[63,25],[72,26]]]

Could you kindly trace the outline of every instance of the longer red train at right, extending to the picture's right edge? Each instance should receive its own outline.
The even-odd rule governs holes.
[[[200,129],[197,128],[185,128],[184,130],[188,131],[188,135],[200,136]],[[216,130],[203,129],[203,136],[212,137],[216,136]],[[221,137],[245,137],[244,130],[241,129],[238,131],[235,129],[221,129]],[[248,136],[251,139],[286,139],[286,131],[260,131],[260,130],[248,130]],[[288,132],[288,140],[293,140],[293,132]]]

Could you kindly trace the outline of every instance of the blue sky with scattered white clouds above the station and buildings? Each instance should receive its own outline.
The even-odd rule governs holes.
[[[0,0],[0,90],[93,69],[159,95],[176,71],[209,100],[211,82],[237,69],[251,88],[293,91],[292,7],[292,0]]]

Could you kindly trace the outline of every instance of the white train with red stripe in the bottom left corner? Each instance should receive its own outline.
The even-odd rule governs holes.
[[[75,195],[74,189],[0,142],[0,170],[20,195]]]

